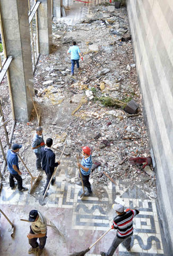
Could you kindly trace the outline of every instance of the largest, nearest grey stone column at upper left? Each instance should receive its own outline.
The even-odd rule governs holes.
[[[13,60],[9,67],[14,114],[17,121],[29,121],[34,95],[28,0],[1,0],[2,19],[7,56]]]

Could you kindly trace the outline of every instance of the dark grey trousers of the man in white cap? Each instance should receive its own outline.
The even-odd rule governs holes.
[[[113,243],[111,244],[108,252],[106,253],[106,256],[113,256],[115,250],[117,249],[118,245],[123,243],[123,245],[126,247],[126,249],[130,249],[131,247],[131,240],[132,240],[132,235],[129,235],[127,238],[119,238],[117,235],[114,238]]]

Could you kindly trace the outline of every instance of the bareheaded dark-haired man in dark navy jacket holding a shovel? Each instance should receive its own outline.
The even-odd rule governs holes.
[[[46,175],[47,175],[46,185],[45,185],[45,188],[44,188],[44,193],[42,195],[45,194],[45,191],[47,189],[47,186],[49,184],[51,176],[54,173],[55,167],[57,167],[60,164],[59,161],[57,161],[55,163],[55,154],[50,149],[52,145],[53,145],[53,139],[48,138],[46,140],[46,147],[41,148],[41,152],[40,152],[41,161],[42,161],[42,170],[44,170],[46,172]],[[54,185],[54,182],[55,182],[55,177],[52,179],[51,185]]]

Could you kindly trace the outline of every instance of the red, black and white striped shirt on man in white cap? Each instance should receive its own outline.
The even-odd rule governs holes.
[[[117,229],[117,237],[126,238],[133,234],[133,218],[139,213],[138,210],[129,210],[114,218],[114,228]]]

